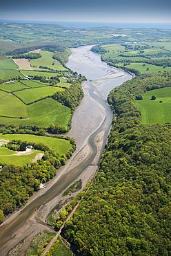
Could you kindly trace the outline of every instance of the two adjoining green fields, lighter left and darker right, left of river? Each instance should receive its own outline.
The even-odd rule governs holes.
[[[1,98],[0,91],[0,98]],[[3,118],[0,117],[0,122],[6,125],[37,125],[38,127],[49,127],[50,123],[58,124],[63,127],[68,126],[70,120],[70,109],[63,106],[57,100],[47,98],[34,104],[26,106],[14,95],[6,95],[5,98],[1,99],[1,116],[14,116],[14,117],[28,117],[29,119],[14,119],[14,118]],[[8,98],[13,107],[10,107]]]

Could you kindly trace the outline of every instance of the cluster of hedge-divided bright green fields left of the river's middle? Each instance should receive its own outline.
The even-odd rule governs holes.
[[[65,91],[65,89],[48,86],[48,83],[39,81],[26,80],[23,82],[24,84],[21,82],[1,84],[0,121],[6,125],[12,123],[14,125],[48,127],[50,123],[54,123],[67,127],[68,120],[70,120],[70,109],[52,98],[41,100],[43,97],[57,91]],[[59,84],[70,86],[68,83]],[[37,88],[35,88],[36,86]],[[34,102],[36,100],[40,101]],[[34,103],[26,106],[30,102]]]

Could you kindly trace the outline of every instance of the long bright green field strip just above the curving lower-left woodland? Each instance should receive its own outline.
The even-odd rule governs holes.
[[[52,138],[52,137],[46,137],[46,136],[36,136],[36,135],[30,135],[30,134],[0,134],[0,139],[3,140],[27,140],[34,143],[43,143],[50,147],[51,149],[54,149],[55,152],[61,156],[62,154],[66,154],[69,149],[71,149],[70,141],[69,140],[63,140],[61,138]]]

